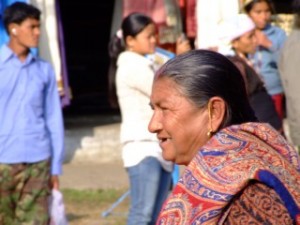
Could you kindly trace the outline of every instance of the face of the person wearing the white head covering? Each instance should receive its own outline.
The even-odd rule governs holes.
[[[235,39],[232,42],[234,50],[241,54],[254,53],[257,47],[257,39],[255,36],[255,30],[248,31],[247,33]]]

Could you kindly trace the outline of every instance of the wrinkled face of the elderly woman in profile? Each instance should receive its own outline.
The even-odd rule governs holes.
[[[181,94],[170,78],[154,81],[148,129],[157,134],[164,159],[188,165],[207,140],[208,113]]]

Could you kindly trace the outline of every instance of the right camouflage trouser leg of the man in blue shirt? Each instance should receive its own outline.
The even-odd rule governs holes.
[[[50,161],[26,164],[24,184],[15,211],[16,224],[49,223],[48,197],[50,195]]]

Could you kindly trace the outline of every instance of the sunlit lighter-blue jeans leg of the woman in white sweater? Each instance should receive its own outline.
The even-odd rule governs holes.
[[[128,225],[147,225],[151,221],[157,193],[161,166],[154,157],[147,157],[138,165],[127,169],[130,179],[131,206]]]

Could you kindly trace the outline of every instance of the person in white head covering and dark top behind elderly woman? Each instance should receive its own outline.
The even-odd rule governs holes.
[[[260,122],[271,124],[282,132],[282,123],[271,96],[268,94],[263,81],[252,67],[248,55],[255,52],[257,39],[255,24],[245,14],[239,14],[225,19],[219,24],[219,39],[223,46],[228,46],[224,53],[241,71],[246,83],[249,102]]]

